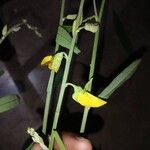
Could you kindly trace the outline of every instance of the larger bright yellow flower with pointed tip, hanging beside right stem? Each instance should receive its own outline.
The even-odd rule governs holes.
[[[103,106],[107,102],[83,90],[80,86],[73,86],[74,94],[72,98],[84,107],[97,108]]]

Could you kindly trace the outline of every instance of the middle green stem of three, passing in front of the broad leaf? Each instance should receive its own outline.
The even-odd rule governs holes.
[[[77,17],[80,17],[80,15],[82,14],[83,4],[84,4],[84,0],[81,0]],[[73,56],[73,50],[74,50],[74,46],[76,44],[77,36],[78,36],[78,32],[75,32],[73,39],[72,39],[72,42],[71,42],[71,46],[70,46],[70,50],[69,50],[69,54],[68,54],[68,59],[66,61],[66,65],[65,65],[65,70],[64,70],[61,88],[60,88],[58,103],[57,103],[57,107],[56,107],[56,111],[55,111],[55,115],[54,115],[52,130],[57,128],[58,119],[59,119],[62,101],[63,101],[65,89],[66,89],[68,73],[69,73],[69,69],[70,69],[70,64],[71,64],[71,60],[72,60],[72,56]]]

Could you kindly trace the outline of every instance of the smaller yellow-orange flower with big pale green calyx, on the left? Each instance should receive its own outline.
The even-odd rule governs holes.
[[[49,55],[43,58],[41,65],[47,65],[50,70],[58,72],[63,59],[63,52],[57,53],[54,56]]]

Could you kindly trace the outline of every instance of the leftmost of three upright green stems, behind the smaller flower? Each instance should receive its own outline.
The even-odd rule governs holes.
[[[59,25],[63,24],[64,6],[65,6],[65,0],[62,0]],[[59,44],[56,44],[55,52],[57,52],[58,49],[59,49]],[[49,114],[49,107],[50,107],[54,77],[55,77],[55,73],[54,73],[54,71],[51,71],[48,86],[47,86],[47,95],[46,95],[46,103],[45,103],[43,126],[42,126],[42,132],[44,134],[46,134],[46,130],[47,130],[47,121],[48,121],[48,114]]]

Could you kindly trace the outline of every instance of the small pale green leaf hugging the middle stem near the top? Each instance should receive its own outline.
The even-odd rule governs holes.
[[[73,36],[75,35],[75,32],[77,31],[77,29],[81,25],[82,20],[83,20],[83,13],[80,16],[77,16],[77,18],[73,22],[73,26],[72,26],[72,35]]]

